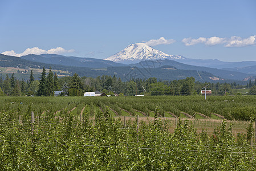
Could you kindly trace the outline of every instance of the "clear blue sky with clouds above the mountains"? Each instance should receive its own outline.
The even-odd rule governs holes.
[[[153,48],[169,55],[255,61],[255,9],[254,0],[1,0],[0,52],[104,59],[152,40]]]

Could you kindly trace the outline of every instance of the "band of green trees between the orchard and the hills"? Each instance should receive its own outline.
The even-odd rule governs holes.
[[[102,75],[96,78],[80,77],[78,74],[58,78],[56,73],[48,73],[45,68],[39,80],[35,80],[33,70],[30,71],[28,80],[18,80],[14,73],[9,78],[0,77],[0,96],[54,96],[54,91],[62,91],[62,96],[83,96],[84,92],[100,91],[107,95],[143,95],[143,87],[149,95],[200,95],[202,87],[208,85],[213,95],[234,95],[231,89],[245,88],[245,86],[234,83],[201,83],[196,82],[193,77],[162,81],[157,78],[132,78],[123,82],[115,75]],[[256,82],[249,82],[250,94],[256,95]]]

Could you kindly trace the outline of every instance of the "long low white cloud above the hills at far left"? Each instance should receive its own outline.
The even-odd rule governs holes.
[[[40,55],[40,54],[64,54],[64,53],[71,53],[71,52],[74,52],[74,50],[65,50],[62,47],[51,48],[48,51],[40,49],[38,47],[33,47],[33,48],[27,48],[21,54],[17,54],[13,50],[2,52],[2,54],[21,57],[21,56],[25,56],[25,55],[29,55],[29,54],[35,54],[35,55]]]

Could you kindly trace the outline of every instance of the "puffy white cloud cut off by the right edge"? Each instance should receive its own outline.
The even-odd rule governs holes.
[[[256,35],[250,36],[249,38],[242,39],[239,36],[232,36],[225,47],[243,47],[256,44]]]

